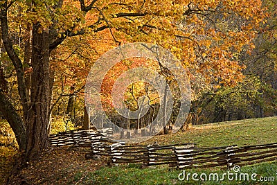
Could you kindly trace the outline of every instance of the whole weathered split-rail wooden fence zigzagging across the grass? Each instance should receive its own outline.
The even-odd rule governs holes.
[[[105,132],[104,132],[105,134]],[[110,131],[106,133],[111,134]],[[90,156],[107,156],[111,164],[169,165],[176,168],[210,168],[277,161],[277,143],[253,146],[198,148],[194,143],[170,146],[125,145],[95,131],[69,131],[49,136],[52,146],[90,147]]]

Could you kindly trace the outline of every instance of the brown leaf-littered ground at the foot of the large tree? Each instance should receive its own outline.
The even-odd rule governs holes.
[[[78,184],[88,173],[106,165],[106,159],[85,159],[89,148],[50,148],[30,162],[9,184]]]

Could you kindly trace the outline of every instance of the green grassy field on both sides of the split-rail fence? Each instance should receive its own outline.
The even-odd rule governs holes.
[[[254,145],[262,143],[277,142],[277,117],[256,118],[242,121],[231,121],[222,123],[211,123],[190,127],[184,133],[155,136],[145,143],[157,142],[159,144],[172,143],[197,143],[197,146],[238,146]],[[276,156],[277,159],[277,156]],[[232,172],[232,171],[231,171]],[[80,184],[276,184],[277,183],[277,162],[258,164],[256,166],[243,166],[241,173],[249,174],[249,181],[239,179],[230,181],[224,178],[223,181],[193,181],[190,179],[181,181],[178,175],[181,170],[168,168],[167,166],[157,168],[143,168],[139,165],[129,164],[128,166],[115,166],[112,168],[101,168],[96,172],[86,175],[76,173],[76,181]],[[220,168],[211,169],[190,169],[186,173],[217,173],[222,177],[226,170]],[[256,173],[256,180],[250,175]],[[198,176],[199,179],[199,176]],[[267,179],[267,182],[262,182]]]

